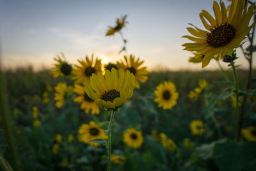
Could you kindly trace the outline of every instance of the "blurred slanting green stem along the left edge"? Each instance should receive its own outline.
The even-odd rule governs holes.
[[[10,112],[6,92],[7,91],[4,74],[3,71],[0,70],[0,114],[2,119],[1,123],[3,124],[3,129],[6,135],[6,141],[10,149],[10,154],[12,156],[13,168],[19,171],[21,170],[20,162],[17,157],[17,149],[15,147],[15,142],[11,131],[12,122],[10,121]]]

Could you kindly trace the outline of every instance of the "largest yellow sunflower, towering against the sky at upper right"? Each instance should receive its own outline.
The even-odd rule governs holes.
[[[220,2],[220,5],[214,1],[213,10],[216,19],[208,11],[202,10],[200,13],[200,18],[207,31],[199,29],[193,24],[191,26],[195,29],[193,27],[187,28],[193,36],[183,37],[195,42],[184,43],[182,46],[185,47],[184,50],[203,55],[202,68],[209,64],[213,56],[217,59],[222,59],[225,55],[232,56],[233,49],[239,47],[246,34],[255,25],[256,22],[249,26],[255,4],[247,8],[248,1],[245,4],[244,2],[241,0],[232,1],[230,11],[227,12],[223,1]]]

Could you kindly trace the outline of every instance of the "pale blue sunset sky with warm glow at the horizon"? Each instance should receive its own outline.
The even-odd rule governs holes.
[[[224,1],[228,5],[228,1]],[[52,68],[54,57],[63,52],[69,63],[94,56],[103,63],[120,61],[120,34],[105,36],[116,18],[127,15],[122,33],[127,54],[144,61],[148,70],[202,70],[188,62],[191,52],[182,50],[189,35],[188,23],[204,29],[201,10],[212,14],[212,0],[145,1],[4,1],[0,0],[0,45],[4,68],[33,66]],[[247,68],[243,56],[236,62]],[[221,65],[227,64],[221,62]],[[203,70],[218,70],[211,61]]]

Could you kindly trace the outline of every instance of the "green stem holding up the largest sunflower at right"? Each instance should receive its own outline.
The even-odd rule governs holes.
[[[232,66],[232,70],[233,70],[233,77],[234,77],[234,82],[236,84],[236,110],[235,110],[235,116],[236,116],[236,132],[239,131],[238,129],[238,123],[239,123],[239,117],[238,117],[238,98],[239,98],[239,94],[238,94],[238,81],[237,81],[237,75],[236,75],[236,67],[234,62],[232,61],[231,63]],[[236,141],[238,142],[239,140],[237,139],[238,137],[236,136]]]

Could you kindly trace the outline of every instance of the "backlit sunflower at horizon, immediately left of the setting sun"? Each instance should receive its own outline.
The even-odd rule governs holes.
[[[91,60],[86,56],[85,60],[77,61],[80,65],[75,65],[76,69],[74,69],[74,77],[72,78],[76,80],[76,83],[89,82],[93,73],[101,72],[101,60],[96,57],[94,61],[93,55]]]

